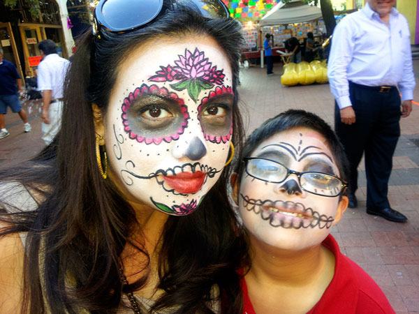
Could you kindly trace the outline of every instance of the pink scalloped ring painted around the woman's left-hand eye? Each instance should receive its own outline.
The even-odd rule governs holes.
[[[174,100],[180,108],[180,112],[183,114],[183,121],[180,124],[179,128],[176,130],[175,133],[162,136],[162,137],[146,137],[135,133],[128,121],[128,110],[131,105],[134,103],[135,99],[142,95],[147,94],[156,94],[160,96],[165,96],[166,98],[170,98]],[[128,97],[124,98],[124,103],[122,104],[122,124],[124,124],[124,131],[128,133],[129,138],[131,140],[137,140],[137,142],[145,142],[145,144],[160,144],[161,142],[170,142],[172,140],[178,140],[179,135],[184,133],[184,129],[188,126],[189,120],[189,113],[188,108],[184,104],[184,100],[179,98],[177,94],[169,92],[166,87],[158,87],[157,85],[147,86],[147,84],[142,84],[140,87],[137,87],[133,92],[128,94]]]

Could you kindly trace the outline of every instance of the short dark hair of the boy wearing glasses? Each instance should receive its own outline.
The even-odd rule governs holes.
[[[260,142],[263,142],[272,135],[297,127],[310,128],[325,137],[327,145],[332,151],[333,158],[335,158],[336,165],[339,169],[339,177],[346,181],[349,169],[348,160],[344,152],[344,147],[341,142],[339,142],[336,133],[329,124],[321,119],[321,117],[304,110],[288,110],[282,112],[276,117],[267,119],[267,121],[263,122],[256,130],[253,130],[251,135],[247,138],[246,143],[244,143],[238,162],[235,165],[235,173],[238,175],[237,179],[240,181],[242,174],[244,173],[244,163],[242,163],[243,158],[249,157],[252,151],[258,147]]]

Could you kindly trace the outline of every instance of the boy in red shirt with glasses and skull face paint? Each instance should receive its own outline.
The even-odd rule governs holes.
[[[249,238],[241,313],[395,313],[330,228],[348,206],[347,160],[315,114],[289,110],[249,136],[231,178]]]

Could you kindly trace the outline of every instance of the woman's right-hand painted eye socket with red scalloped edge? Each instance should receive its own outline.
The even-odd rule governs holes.
[[[233,90],[231,87],[216,87],[204,97],[198,106],[198,119],[205,140],[226,143],[233,134]]]

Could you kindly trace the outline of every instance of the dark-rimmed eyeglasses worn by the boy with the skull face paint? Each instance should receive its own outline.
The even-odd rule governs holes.
[[[284,182],[290,174],[295,174],[301,188],[316,195],[335,197],[348,186],[346,182],[332,174],[311,171],[297,172],[270,159],[246,157],[244,163],[249,176],[265,182],[279,184]]]

